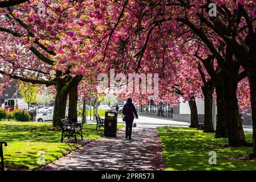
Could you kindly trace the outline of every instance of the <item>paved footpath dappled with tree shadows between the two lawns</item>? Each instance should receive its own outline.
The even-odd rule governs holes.
[[[63,156],[41,170],[162,170],[161,144],[156,129],[133,127],[132,139],[125,128],[117,137],[102,137]],[[143,144],[142,140],[146,143]]]

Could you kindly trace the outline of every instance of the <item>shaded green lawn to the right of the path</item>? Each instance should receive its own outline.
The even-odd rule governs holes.
[[[252,147],[228,147],[227,139],[214,133],[184,127],[159,127],[166,170],[256,170],[255,160],[228,160],[248,156]],[[245,133],[252,142],[252,133]],[[209,151],[216,151],[217,164],[210,165]]]

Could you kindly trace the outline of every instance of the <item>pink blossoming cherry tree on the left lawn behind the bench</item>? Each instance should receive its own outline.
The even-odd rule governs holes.
[[[38,13],[38,2],[29,1],[1,10],[0,73],[10,78],[56,86],[54,126],[64,117],[67,96],[77,100],[81,73],[90,75],[95,66],[91,31],[85,30],[83,3],[77,1],[39,1],[44,3],[45,16]],[[82,31],[82,29],[84,30]],[[84,33],[86,32],[86,33]],[[88,34],[87,34],[88,33]],[[90,51],[91,50],[91,51]],[[96,69],[94,69],[96,71]],[[26,74],[25,74],[26,73]],[[84,74],[86,75],[86,74]],[[72,101],[70,105],[72,107]],[[76,103],[76,102],[75,102]],[[72,110],[71,110],[72,111]]]

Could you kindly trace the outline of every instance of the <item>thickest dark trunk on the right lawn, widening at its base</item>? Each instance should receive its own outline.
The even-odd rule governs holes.
[[[239,118],[239,107],[237,100],[237,82],[233,77],[224,75],[224,101],[227,122],[227,135],[229,146],[245,146],[246,139]]]

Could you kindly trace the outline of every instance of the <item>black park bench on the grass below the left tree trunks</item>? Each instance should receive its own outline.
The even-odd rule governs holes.
[[[70,121],[68,118],[60,119],[60,124],[62,125],[62,139],[61,142],[63,142],[63,139],[65,137],[70,137],[75,139],[75,142],[77,143],[76,135],[80,135],[80,137],[83,139],[83,133],[82,133],[82,123],[74,123]]]

